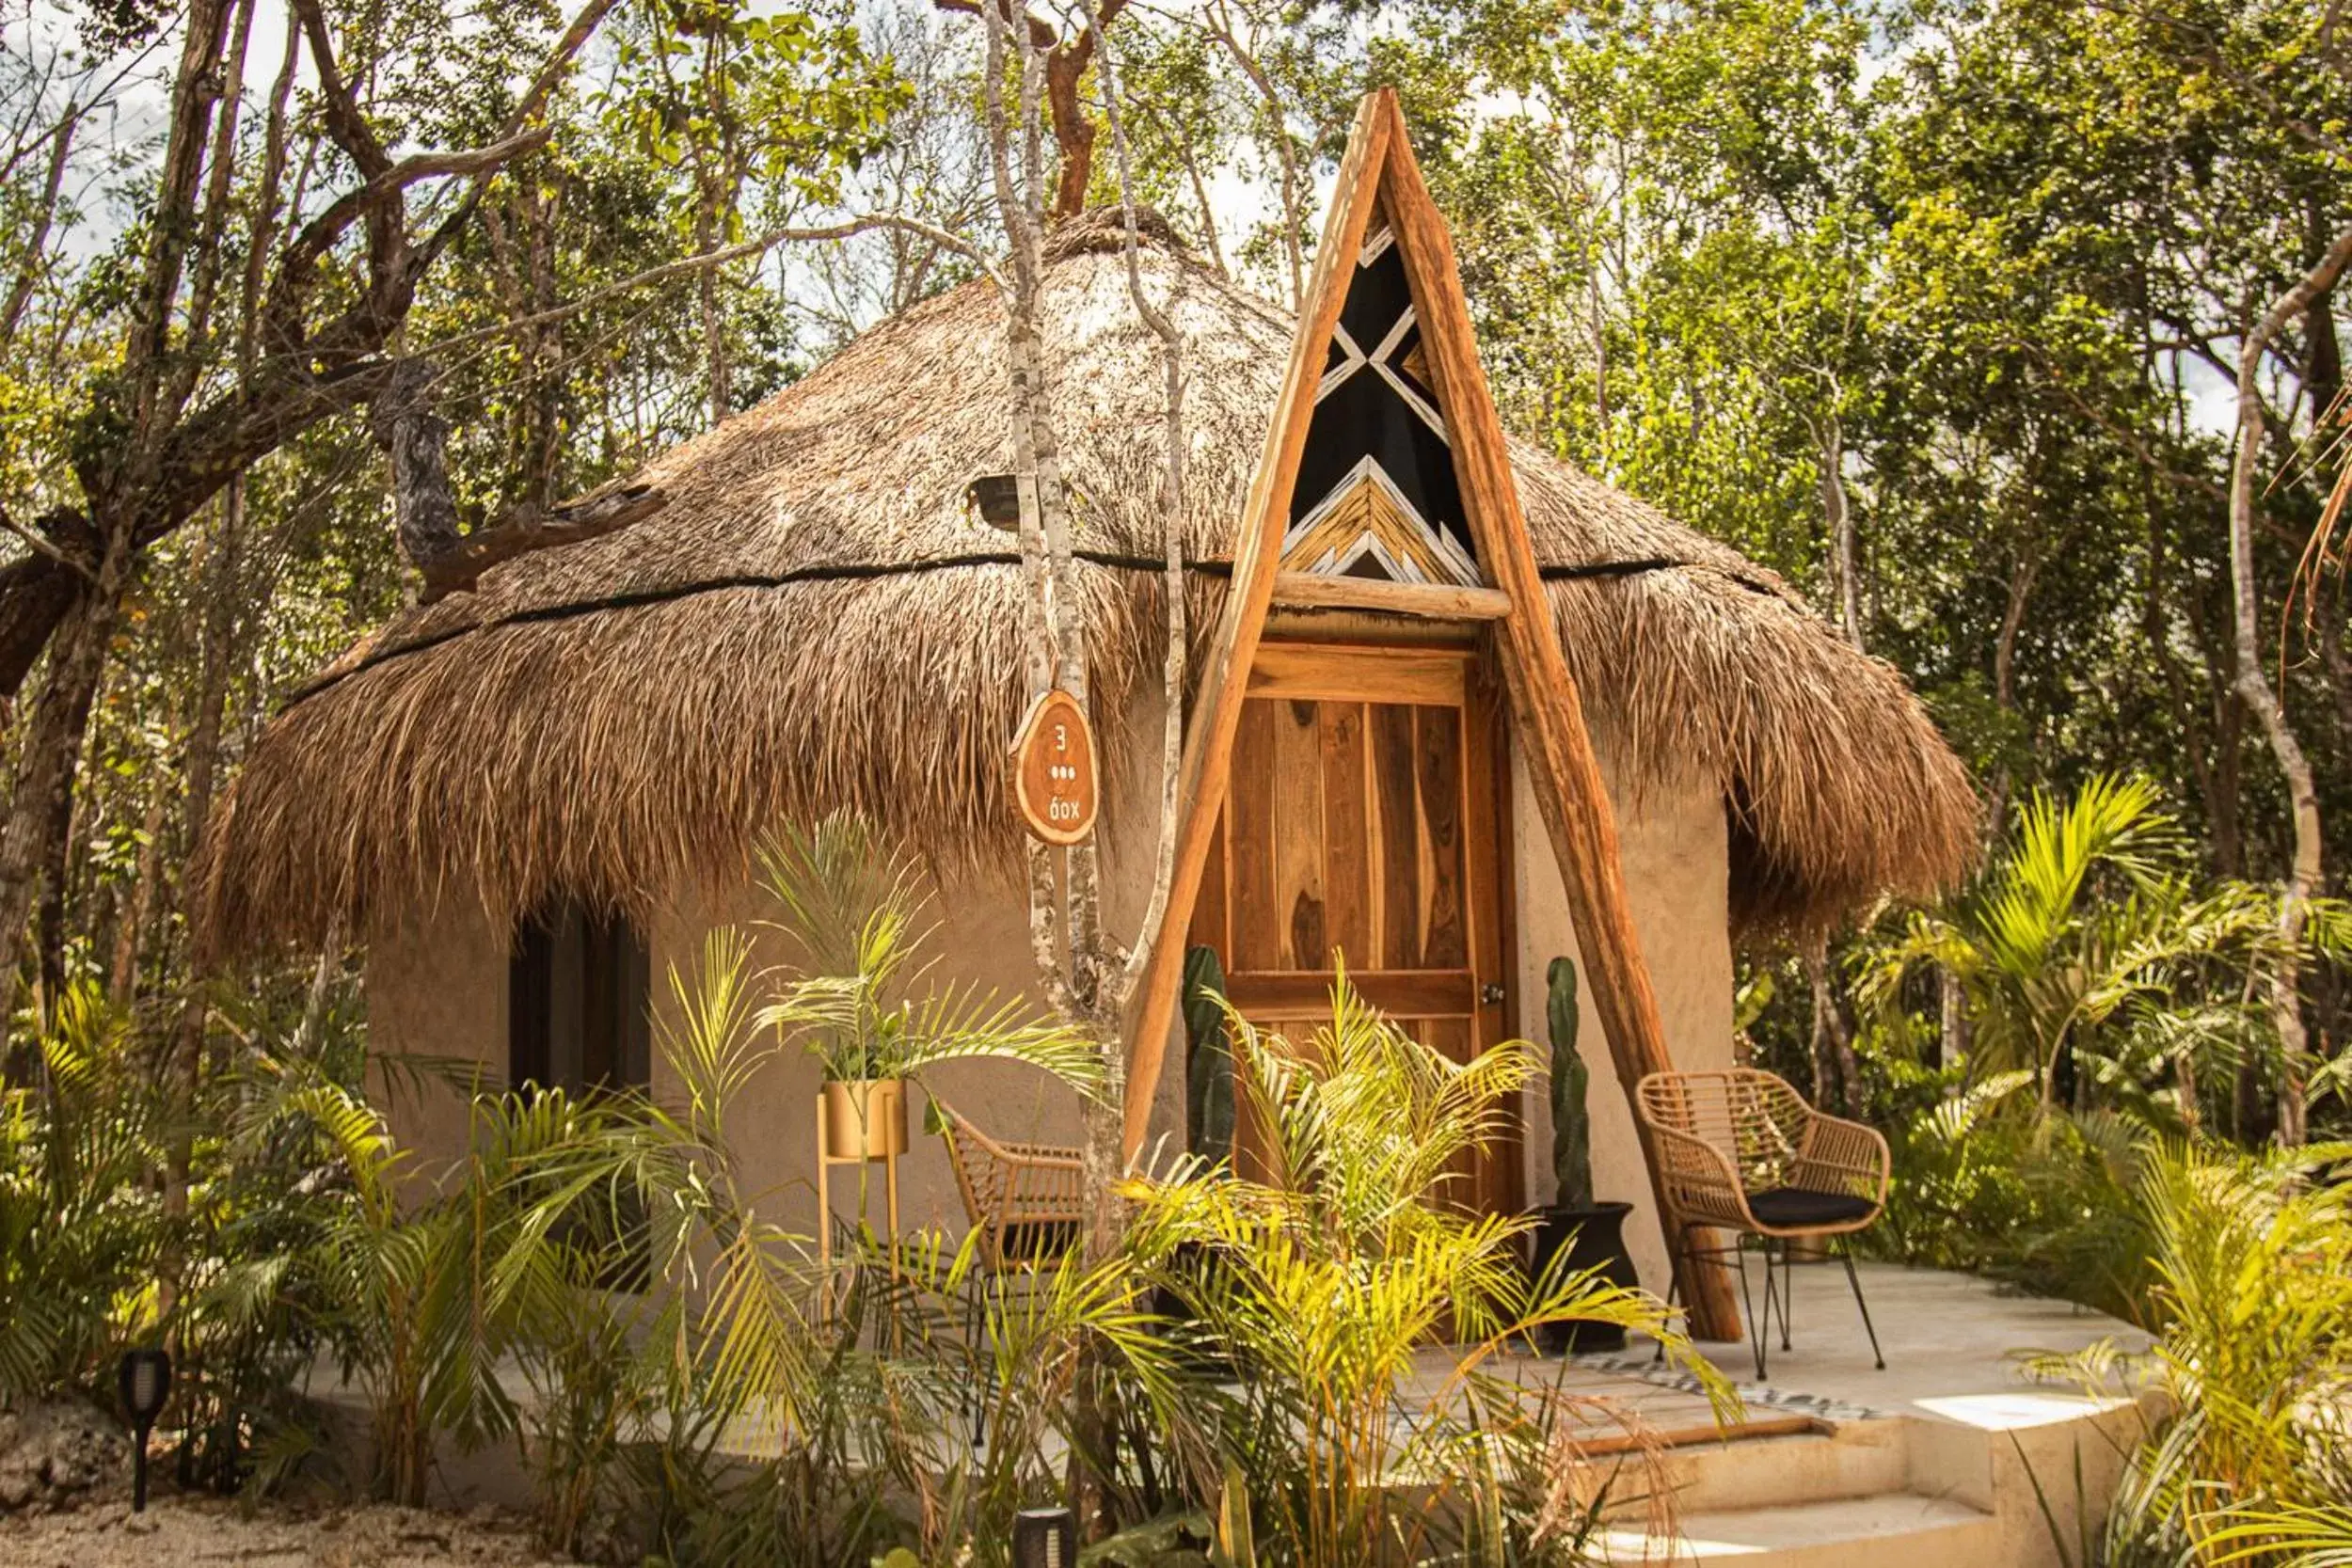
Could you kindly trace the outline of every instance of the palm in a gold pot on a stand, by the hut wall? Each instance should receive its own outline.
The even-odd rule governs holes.
[[[1080,1091],[1101,1081],[1094,1041],[1070,1025],[978,985],[924,985],[934,959],[920,867],[861,818],[833,813],[771,839],[760,870],[781,907],[764,924],[800,961],[757,1020],[818,1060],[837,1157],[903,1154],[906,1081],[936,1063],[1030,1063]]]

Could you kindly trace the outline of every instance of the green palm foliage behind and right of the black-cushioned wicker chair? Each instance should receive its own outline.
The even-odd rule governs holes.
[[[2321,905],[2305,961],[2333,957]],[[1856,957],[1858,1051],[1896,1182],[1870,1244],[2152,1324],[2150,1135],[2232,1126],[2277,1063],[2277,898],[2201,882],[2145,780],[2037,792],[1983,884]],[[1959,985],[1966,1058],[1922,1065]]]

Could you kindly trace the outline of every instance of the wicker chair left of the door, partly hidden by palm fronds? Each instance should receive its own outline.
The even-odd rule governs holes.
[[[941,1100],[941,1135],[955,1166],[955,1190],[974,1234],[971,1288],[964,1295],[964,1338],[974,1352],[988,1333],[988,1293],[1002,1300],[1014,1274],[1035,1279],[1061,1262],[1087,1232],[1087,1159],[1082,1150],[1049,1143],[1000,1143],[971,1126]],[[995,1359],[981,1354],[981,1380],[967,1385],[964,1410],[971,1441],[985,1434],[988,1401],[995,1396]]]

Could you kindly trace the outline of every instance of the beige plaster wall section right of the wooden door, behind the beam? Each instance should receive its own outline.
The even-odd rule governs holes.
[[[1722,795],[1696,778],[1630,790],[1621,783],[1628,771],[1613,766],[1611,757],[1602,757],[1602,776],[1618,806],[1625,896],[1632,903],[1635,933],[1658,992],[1668,1051],[1677,1067],[1729,1067],[1731,846]],[[1552,957],[1573,957],[1583,1020],[1578,1048],[1592,1070],[1585,1100],[1592,1114],[1592,1190],[1599,1199],[1635,1206],[1625,1222],[1635,1267],[1646,1288],[1665,1295],[1665,1241],[1635,1135],[1632,1105],[1592,1011],[1590,976],[1576,947],[1566,889],[1559,879],[1559,865],[1552,860],[1543,818],[1536,813],[1526,764],[1517,755],[1510,773],[1512,844],[1519,860],[1519,1030],[1543,1041],[1543,973]],[[1529,1095],[1526,1161],[1529,1201],[1550,1204],[1557,1187],[1552,1180],[1552,1105],[1541,1086]]]

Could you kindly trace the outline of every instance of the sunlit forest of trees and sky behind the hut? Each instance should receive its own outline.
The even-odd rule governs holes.
[[[1900,668],[1987,842],[2034,790],[2143,776],[2204,875],[2324,893],[2352,804],[2338,12],[1098,0],[1028,26],[1058,205],[1117,200],[1089,158],[1115,49],[1134,195],[1275,301],[1357,96],[1395,85],[1505,421]],[[195,1063],[219,1025],[188,867],[273,705],[447,590],[421,569],[452,541],[461,585],[609,527],[564,498],[971,277],[1002,249],[981,59],[969,0],[12,2],[9,997],[85,978]],[[395,517],[393,458],[435,425],[454,510]],[[1766,1058],[1835,1079],[1853,940],[1750,959]],[[2298,980],[2326,1088],[2352,999]],[[1957,1030],[1947,1006],[1931,1048]],[[2227,1095],[2249,1143],[2296,1098],[2272,1070],[2244,1053]]]

